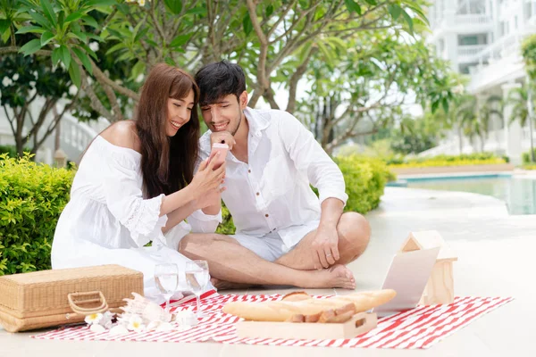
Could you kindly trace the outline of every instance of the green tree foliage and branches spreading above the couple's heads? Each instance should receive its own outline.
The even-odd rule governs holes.
[[[421,0],[2,0],[0,54],[51,58],[82,89],[80,116],[130,116],[143,76],[158,62],[196,71],[227,59],[247,71],[250,106],[260,98],[306,112],[299,85],[313,82],[309,102],[338,93],[351,108],[322,125],[331,150],[355,132],[365,113],[385,125],[398,111],[389,93],[416,93],[432,109],[451,99],[447,69],[419,39],[427,26]],[[28,39],[19,37],[30,34]],[[333,82],[331,85],[330,82]],[[418,90],[422,88],[422,90]],[[387,94],[387,95],[386,95]],[[326,102],[327,103],[327,102]],[[323,104],[324,106],[328,104]],[[360,107],[359,111],[356,108]],[[315,108],[304,121],[315,121]],[[395,113],[393,113],[395,112]],[[341,129],[344,127],[344,129]],[[332,129],[332,130],[331,130]],[[348,135],[350,134],[350,135]]]

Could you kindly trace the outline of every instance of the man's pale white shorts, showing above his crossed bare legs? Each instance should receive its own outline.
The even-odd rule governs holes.
[[[301,237],[299,237],[297,242],[292,246],[285,245],[277,232],[268,233],[261,237],[251,236],[244,233],[230,235],[229,237],[236,239],[240,245],[257,254],[265,261],[274,262],[281,258],[282,255],[289,253],[294,249],[294,247],[306,237],[307,233],[318,228],[318,221],[311,223],[312,224],[307,225],[306,227],[300,226],[297,228],[297,235],[301,235]]]

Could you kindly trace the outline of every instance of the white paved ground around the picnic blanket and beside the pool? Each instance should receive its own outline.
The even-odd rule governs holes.
[[[367,218],[373,239],[350,265],[359,290],[381,287],[391,257],[411,230],[436,229],[458,253],[456,295],[514,296],[468,327],[424,351],[248,345],[41,341],[0,330],[4,356],[536,356],[536,216],[509,216],[482,195],[388,187]],[[240,293],[281,293],[256,289]],[[237,292],[232,292],[236,294]],[[333,290],[312,291],[333,294]]]

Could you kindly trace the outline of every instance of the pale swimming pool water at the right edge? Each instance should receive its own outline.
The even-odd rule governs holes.
[[[507,203],[510,214],[536,214],[536,179],[508,176],[406,179],[411,188],[472,192]]]

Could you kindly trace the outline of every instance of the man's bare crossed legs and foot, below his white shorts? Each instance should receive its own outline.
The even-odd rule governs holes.
[[[354,289],[356,281],[345,265],[364,253],[371,229],[362,215],[347,212],[339,219],[337,233],[339,261],[330,257],[329,268],[322,270],[315,270],[312,254],[316,230],[309,232],[294,249],[275,262],[264,260],[232,237],[214,233],[189,234],[180,241],[179,251],[189,259],[207,261],[218,288],[288,285]]]

